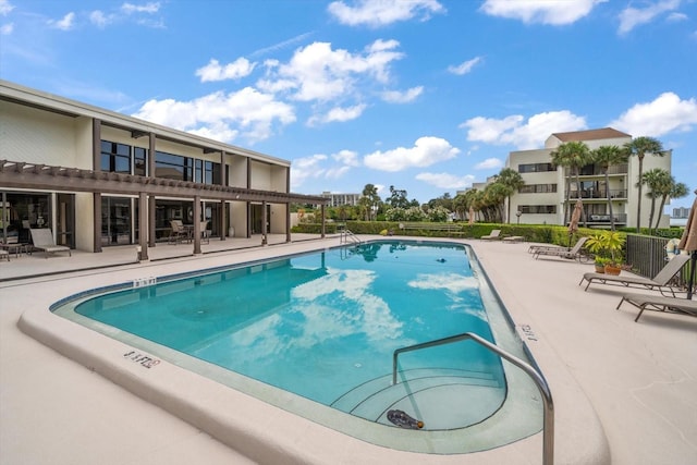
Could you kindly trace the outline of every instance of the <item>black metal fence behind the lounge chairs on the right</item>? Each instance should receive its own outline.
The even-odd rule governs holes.
[[[670,238],[647,235],[627,234],[625,262],[632,266],[632,271],[653,278],[669,260],[665,245]],[[683,267],[675,277],[676,284],[687,286],[689,264]]]

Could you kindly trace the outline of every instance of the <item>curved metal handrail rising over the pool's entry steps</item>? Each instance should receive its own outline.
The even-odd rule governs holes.
[[[539,389],[540,394],[542,394],[545,405],[545,418],[542,423],[542,465],[552,465],[554,463],[554,403],[552,402],[552,393],[549,390],[547,381],[529,364],[526,364],[522,359],[509,354],[503,348],[490,343],[486,339],[472,332],[464,332],[462,334],[451,335],[449,338],[437,339],[435,341],[423,342],[420,344],[414,344],[406,347],[400,347],[394,351],[394,354],[392,355],[392,384],[396,384],[396,359],[401,353],[418,351],[420,348],[428,348],[437,345],[451,344],[453,342],[464,341],[468,339],[496,353],[500,357],[511,362],[513,365],[525,371],[527,376],[533,378],[533,381],[535,381],[537,389]]]

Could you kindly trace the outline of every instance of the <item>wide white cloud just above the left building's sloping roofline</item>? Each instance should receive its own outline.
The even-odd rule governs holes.
[[[182,131],[215,131],[217,136],[212,138],[227,143],[233,134],[249,142],[261,140],[272,134],[273,125],[295,121],[290,105],[250,87],[230,94],[218,91],[189,101],[150,100],[134,117]]]

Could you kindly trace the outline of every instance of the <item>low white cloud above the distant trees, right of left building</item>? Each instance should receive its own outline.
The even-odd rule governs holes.
[[[366,155],[363,162],[366,167],[380,171],[402,171],[412,167],[430,167],[440,161],[454,158],[460,149],[452,147],[439,137],[419,137],[414,147],[398,147],[387,151],[375,151]]]

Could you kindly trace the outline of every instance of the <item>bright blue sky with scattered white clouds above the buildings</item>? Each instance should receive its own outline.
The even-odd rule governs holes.
[[[606,126],[697,188],[695,0],[0,0],[0,77],[291,160],[295,193],[425,203]]]

